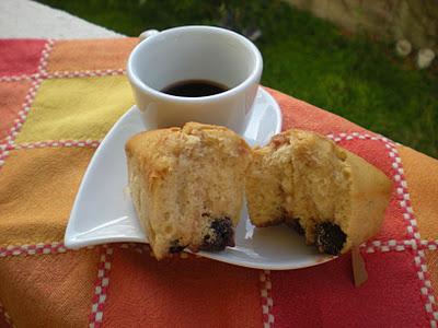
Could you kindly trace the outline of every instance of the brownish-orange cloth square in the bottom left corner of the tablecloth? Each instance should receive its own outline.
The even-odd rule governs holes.
[[[88,327],[99,250],[0,258],[0,300],[15,327]]]

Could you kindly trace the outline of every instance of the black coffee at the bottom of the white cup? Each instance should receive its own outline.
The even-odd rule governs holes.
[[[161,92],[181,97],[204,97],[227,91],[223,84],[207,80],[186,80],[172,83]]]

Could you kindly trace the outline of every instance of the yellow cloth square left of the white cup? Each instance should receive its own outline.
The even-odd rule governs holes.
[[[103,139],[132,104],[125,75],[45,80],[16,142]]]

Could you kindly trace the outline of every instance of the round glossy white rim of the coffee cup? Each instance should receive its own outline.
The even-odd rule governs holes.
[[[254,54],[255,63],[254,63],[253,71],[249,74],[249,77],[246,77],[245,80],[243,80],[241,83],[239,83],[234,87],[227,90],[224,92],[214,94],[214,95],[208,95],[208,96],[200,96],[200,97],[175,96],[175,95],[170,95],[170,94],[163,93],[159,90],[155,90],[155,89],[149,86],[148,84],[143,83],[136,74],[134,65],[132,65],[134,58],[136,56],[139,56],[139,52],[141,51],[141,49],[143,47],[146,47],[146,45],[148,43],[150,43],[150,40],[152,40],[157,36],[172,34],[172,33],[175,33],[176,31],[177,32],[181,32],[181,31],[215,31],[215,32],[224,33],[224,34],[232,36],[233,38],[235,38],[239,42],[241,42],[242,44],[244,44]],[[206,102],[215,102],[220,98],[228,97],[228,96],[233,96],[233,95],[240,93],[241,91],[247,89],[254,82],[258,82],[257,80],[262,75],[262,69],[263,69],[262,54],[260,52],[257,47],[250,39],[244,37],[243,35],[235,33],[233,31],[227,30],[227,28],[222,28],[222,27],[216,27],[216,26],[209,26],[209,25],[187,25],[187,26],[178,26],[178,27],[172,27],[169,30],[164,30],[164,31],[160,32],[159,34],[150,36],[147,39],[140,42],[129,55],[128,63],[127,63],[127,75],[128,75],[128,79],[130,80],[130,82],[136,85],[136,87],[140,89],[142,92],[152,94],[154,97],[160,98],[162,101],[173,101],[176,103],[206,103]]]

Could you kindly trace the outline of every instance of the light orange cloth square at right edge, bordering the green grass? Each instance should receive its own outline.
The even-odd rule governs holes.
[[[438,161],[399,147],[412,208],[423,239],[438,238]]]

